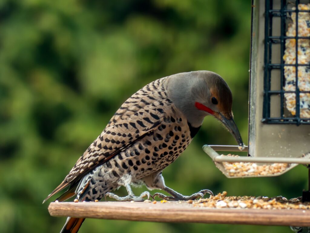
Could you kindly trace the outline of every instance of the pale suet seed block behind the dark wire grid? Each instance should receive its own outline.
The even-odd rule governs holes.
[[[299,10],[310,10],[310,4],[299,4]],[[292,10],[296,10],[295,7]],[[296,36],[296,13],[291,13],[292,23],[288,25],[286,36]],[[298,36],[310,36],[310,13],[298,13]],[[310,63],[310,39],[298,39],[298,64]],[[283,56],[285,64],[296,64],[296,39],[286,39],[285,52]],[[298,66],[298,87],[300,91],[310,91],[310,68],[309,66]],[[284,66],[285,91],[296,90],[296,67]],[[286,108],[296,115],[296,94],[285,93]],[[310,93],[300,93],[300,117],[310,118]]]

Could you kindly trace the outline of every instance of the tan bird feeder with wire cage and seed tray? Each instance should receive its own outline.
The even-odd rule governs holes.
[[[215,152],[237,146],[203,147],[229,178],[278,176],[310,164],[310,1],[254,0],[251,28],[248,157]],[[255,169],[238,173],[240,164]]]

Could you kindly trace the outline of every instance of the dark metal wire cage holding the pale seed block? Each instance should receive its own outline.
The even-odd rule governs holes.
[[[308,3],[265,2],[263,123],[310,124]]]

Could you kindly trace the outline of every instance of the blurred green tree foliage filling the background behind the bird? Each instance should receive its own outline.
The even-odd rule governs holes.
[[[149,82],[210,70],[233,93],[247,141],[251,1],[1,0],[0,232],[59,232],[42,200],[63,180],[117,108]],[[227,179],[203,144],[236,144],[207,117],[163,174],[183,193],[300,196],[307,171]],[[263,145],[262,145],[263,146]],[[145,187],[135,189],[139,194]],[[126,191],[117,191],[125,195]],[[291,232],[288,227],[87,219],[80,232]]]

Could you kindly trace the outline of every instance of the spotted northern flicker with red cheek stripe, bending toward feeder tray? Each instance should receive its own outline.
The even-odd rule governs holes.
[[[162,170],[175,161],[197,134],[204,117],[221,121],[243,142],[233,121],[232,93],[226,82],[210,71],[170,75],[146,85],[122,104],[103,132],[78,159],[64,181],[44,200],[68,188],[57,200],[77,195],[79,201],[109,196],[118,201],[142,201],[131,185],[164,190],[161,198],[189,200],[212,194],[201,190],[184,196],[165,185]],[[126,197],[111,191],[124,186]],[[84,219],[67,219],[61,232],[77,232]]]

